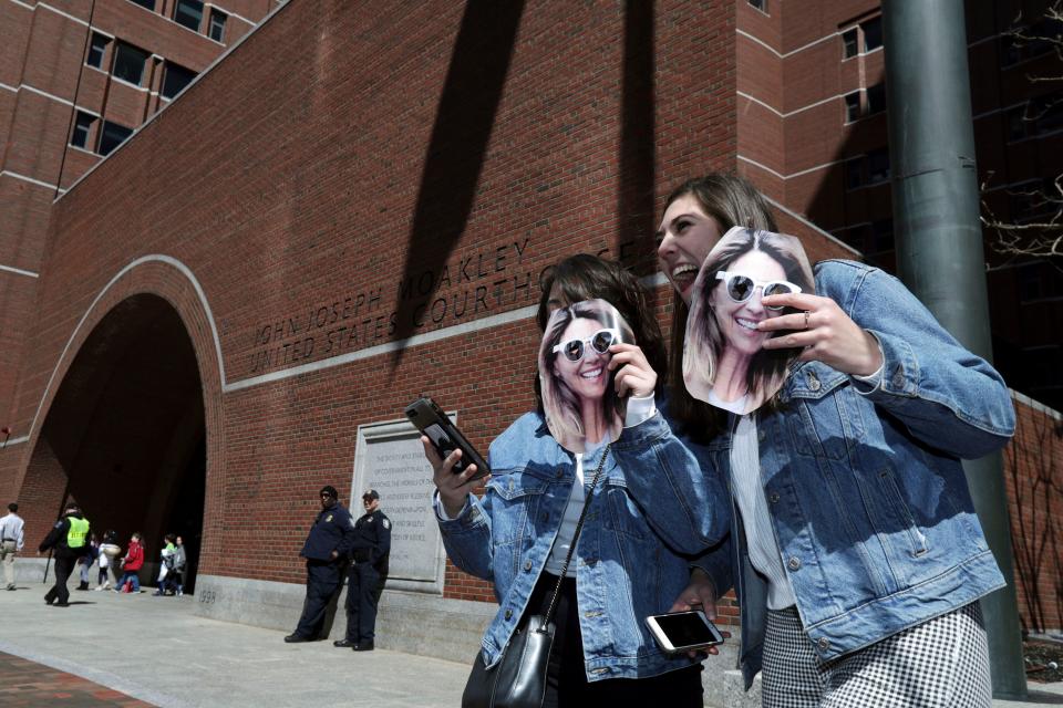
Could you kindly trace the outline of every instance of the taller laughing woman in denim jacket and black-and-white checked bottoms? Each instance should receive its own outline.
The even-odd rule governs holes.
[[[735,225],[774,230],[740,178],[692,179],[668,199],[658,254],[680,336],[698,270]],[[731,481],[746,684],[763,669],[770,708],[988,707],[978,598],[1004,581],[960,459],[1007,444],[1008,389],[883,271],[825,261],[815,293],[762,298],[792,310],[756,323],[776,334],[761,346],[799,355],[755,414],[692,400],[672,368],[673,413],[712,437]],[[675,608],[731,585],[708,575]]]

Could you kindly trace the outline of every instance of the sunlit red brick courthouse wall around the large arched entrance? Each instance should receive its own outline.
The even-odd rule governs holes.
[[[485,124],[489,135],[462,123],[479,115],[463,110],[481,100],[477,62],[498,58],[477,32],[458,37],[461,6],[414,4],[401,17],[381,17],[371,3],[282,10],[56,204],[18,433],[28,431],[56,362],[58,382],[106,311],[123,296],[185,282],[172,269],[156,278],[137,267],[92,308],[60,361],[92,299],[138,256],[173,253],[195,273],[219,329],[228,383],[384,343],[392,317],[420,334],[532,304],[539,272],[567,253],[622,252],[646,262],[654,198],[690,174],[733,165],[733,40],[725,29],[733,10],[694,2],[658,9],[649,29],[651,123],[626,125],[625,86],[642,81],[644,91],[646,76],[638,76],[638,55],[625,58],[622,8],[528,4]],[[452,66],[456,45],[465,59]],[[634,53],[647,51],[640,44]],[[467,73],[466,84],[450,84],[444,97],[454,71]],[[437,117],[441,101],[451,113]],[[446,163],[432,162],[433,136]],[[636,195],[647,208],[621,220],[618,195],[646,184],[631,167],[640,159],[653,173],[654,194]],[[445,248],[451,229],[458,237]],[[422,246],[404,296],[412,231]],[[443,266],[448,284],[431,296],[409,294],[426,272],[443,279]],[[168,300],[186,320],[202,315],[187,292]],[[321,308],[321,326],[308,324]],[[287,323],[280,335],[277,323]],[[348,327],[342,343],[340,326]],[[482,448],[532,405],[528,353],[538,335],[530,321],[224,396],[209,336],[192,336],[207,389],[207,573],[300,582],[291,559],[314,492],[328,482],[347,494],[357,426],[399,417],[417,393],[460,409]],[[293,346],[308,336],[312,351]],[[287,364],[257,358],[278,350]],[[266,537],[275,542],[264,545]],[[451,596],[491,597],[486,584],[453,569],[446,582]]]

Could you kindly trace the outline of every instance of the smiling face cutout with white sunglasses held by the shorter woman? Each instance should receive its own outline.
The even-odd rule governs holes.
[[[556,310],[539,346],[543,408],[554,439],[582,452],[623,427],[625,402],[617,397],[609,347],[634,343],[631,327],[605,300],[585,300]]]

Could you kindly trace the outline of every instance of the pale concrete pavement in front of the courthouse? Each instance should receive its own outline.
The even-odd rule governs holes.
[[[164,708],[453,708],[472,660],[285,644],[282,632],[197,616],[190,596],[71,592],[71,606],[62,608],[44,604],[45,590],[21,581],[17,592],[0,591],[0,652]],[[1063,705],[1063,684],[1031,689],[1028,701],[994,706]],[[706,705],[727,702],[706,696]]]

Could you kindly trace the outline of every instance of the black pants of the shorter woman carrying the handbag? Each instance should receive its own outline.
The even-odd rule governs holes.
[[[543,573],[528,601],[529,612],[545,615],[557,576]],[[584,637],[579,631],[576,579],[566,577],[554,614],[556,627],[546,673],[544,708],[566,706],[669,706],[701,708],[701,665],[649,678],[607,678],[588,683]]]

